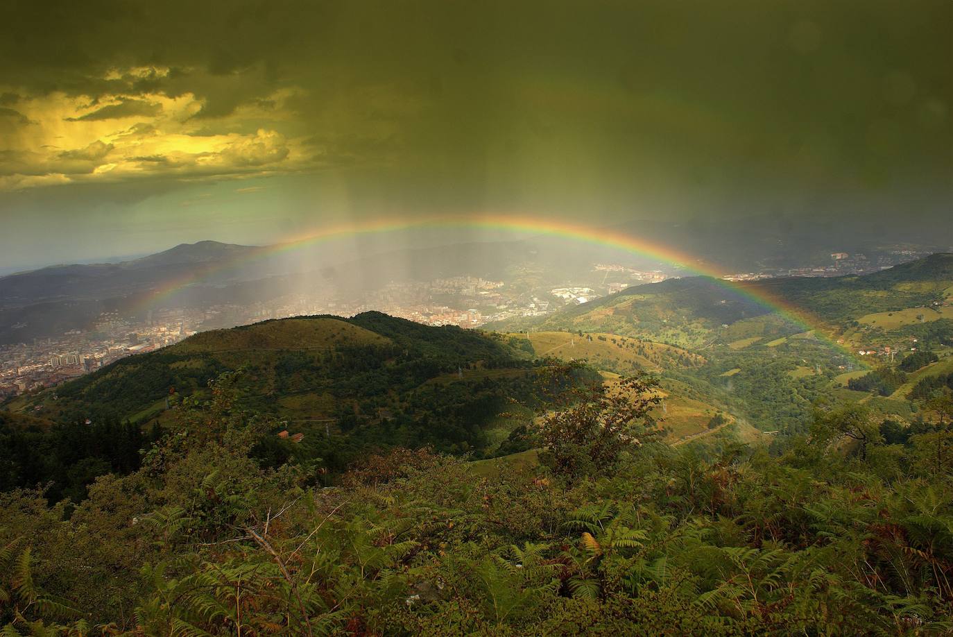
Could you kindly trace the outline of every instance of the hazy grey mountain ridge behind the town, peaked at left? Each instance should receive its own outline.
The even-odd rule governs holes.
[[[573,268],[588,267],[583,255],[565,255],[529,240],[391,246],[375,252],[382,245],[358,243],[355,251],[344,242],[287,251],[280,245],[199,241],[120,263],[51,266],[0,277],[0,343],[85,330],[106,311],[141,311],[140,301],[158,289],[173,293],[163,298],[167,306],[203,308],[264,302],[315,286],[360,292],[392,281],[475,274],[500,278],[517,263],[532,263],[559,280]],[[177,283],[183,280],[193,284]]]

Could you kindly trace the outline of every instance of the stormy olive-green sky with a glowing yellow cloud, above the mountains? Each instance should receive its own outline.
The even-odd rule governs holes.
[[[0,268],[348,220],[949,232],[949,0],[0,6]]]

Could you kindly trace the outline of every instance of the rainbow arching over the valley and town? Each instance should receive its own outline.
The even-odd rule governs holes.
[[[216,262],[204,268],[197,268],[183,277],[173,278],[158,289],[152,291],[152,294],[137,303],[134,309],[145,309],[156,302],[160,302],[164,298],[170,298],[183,288],[198,283],[216,273],[226,271],[238,265],[247,264],[254,259],[279,255],[348,236],[375,235],[415,228],[474,228],[505,230],[535,236],[558,236],[629,252],[639,257],[652,258],[679,266],[691,272],[693,275],[712,277],[722,287],[734,294],[760,304],[770,312],[780,315],[782,318],[798,325],[805,331],[813,331],[818,338],[824,339],[835,345],[838,349],[844,350],[841,345],[826,335],[827,328],[819,318],[810,315],[802,308],[796,307],[787,300],[771,294],[765,290],[763,286],[748,286],[724,280],[722,277],[725,276],[725,271],[699,257],[680,252],[669,245],[646,241],[638,236],[630,236],[614,230],[605,230],[537,216],[424,216],[412,219],[370,219],[355,223],[332,225],[313,233],[289,237],[284,241],[275,243],[274,245],[263,246],[252,252],[245,252],[240,257],[235,257],[231,260],[227,259],[224,262]]]

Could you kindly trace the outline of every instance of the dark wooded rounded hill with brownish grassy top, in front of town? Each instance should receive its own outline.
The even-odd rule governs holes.
[[[140,433],[175,428],[180,406],[211,400],[210,383],[223,376],[238,408],[272,422],[259,452],[275,465],[294,454],[335,472],[393,446],[520,451],[528,447],[510,435],[532,419],[545,369],[525,339],[376,312],[214,330],[10,401],[0,490],[52,480],[55,494],[82,497],[95,475],[138,462],[138,446],[116,450],[112,441],[146,444]],[[303,440],[279,440],[282,430]],[[71,466],[88,470],[72,475]]]

